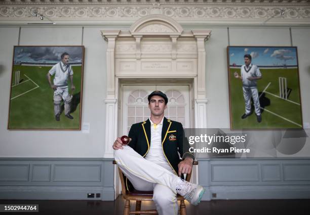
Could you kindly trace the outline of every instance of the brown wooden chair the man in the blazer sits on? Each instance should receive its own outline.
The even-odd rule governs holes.
[[[113,160],[113,164],[117,164],[115,160]],[[194,161],[193,165],[198,165],[198,162]],[[153,191],[139,191],[135,189],[128,191],[125,187],[123,172],[120,168],[118,169],[119,169],[120,179],[122,183],[122,196],[126,200],[125,207],[124,207],[124,215],[129,215],[131,213],[158,214],[157,210],[141,210],[141,201],[152,201]],[[191,177],[191,173],[186,174],[185,180],[189,181],[190,177]],[[179,194],[177,194],[177,200],[180,201],[180,209],[178,210],[178,213],[180,213],[181,215],[186,215],[186,207],[185,207],[183,196],[180,196]],[[136,210],[130,211],[130,201],[136,201]]]

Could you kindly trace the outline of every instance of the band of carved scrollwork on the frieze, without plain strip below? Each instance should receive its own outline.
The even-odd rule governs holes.
[[[281,10],[285,9],[286,13],[281,16]],[[0,7],[0,17],[14,17],[14,18],[32,18],[32,12],[44,14],[51,19],[57,18],[124,18],[133,19],[142,18],[153,14],[153,8],[139,7],[139,6],[12,6]],[[203,18],[234,18],[246,19],[257,18],[266,19],[270,16],[275,16],[280,19],[296,19],[296,18],[310,18],[310,7],[235,7],[235,6],[217,6],[217,7],[195,7],[195,6],[174,6],[161,7],[156,13],[171,17],[173,19],[203,19]]]

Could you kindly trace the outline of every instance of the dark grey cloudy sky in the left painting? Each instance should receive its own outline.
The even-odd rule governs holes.
[[[57,63],[63,52],[69,53],[69,63],[82,62],[81,46],[17,46],[14,61],[30,63]]]

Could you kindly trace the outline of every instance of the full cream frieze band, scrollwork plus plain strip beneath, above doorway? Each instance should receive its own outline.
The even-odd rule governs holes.
[[[1,1],[1,0],[0,0]],[[25,0],[26,1],[26,0]],[[142,1],[142,0],[141,0]],[[211,25],[310,25],[310,5],[306,7],[284,6],[167,6],[152,5],[0,5],[0,24],[42,23],[33,12],[42,14],[57,24],[100,25],[132,24],[148,15],[163,15],[180,24]]]

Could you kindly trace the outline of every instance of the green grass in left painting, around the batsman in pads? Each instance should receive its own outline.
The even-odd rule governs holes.
[[[50,69],[51,67],[45,66],[13,66],[10,129],[79,129],[82,67],[72,66],[75,90],[71,115],[74,119],[66,118],[62,112],[59,122],[54,116],[53,89],[50,88],[46,78]],[[15,71],[18,70],[20,81],[14,86]]]

